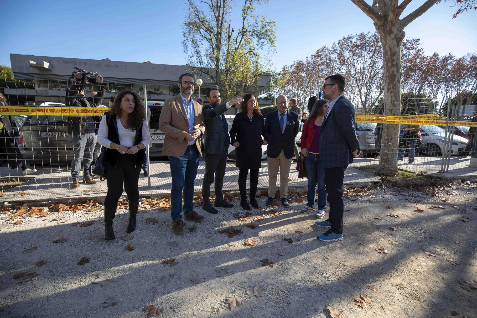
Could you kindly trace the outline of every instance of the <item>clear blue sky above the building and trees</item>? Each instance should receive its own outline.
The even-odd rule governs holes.
[[[274,68],[303,59],[345,35],[373,31],[371,19],[350,0],[293,2],[270,0],[257,12],[277,22]],[[0,0],[0,3],[0,64],[10,66],[10,53],[186,63],[181,31],[187,5],[182,0]],[[419,3],[422,1],[413,0],[404,14]],[[427,54],[461,56],[476,52],[477,11],[452,19],[456,8],[448,3],[434,5],[413,21],[404,30],[406,36],[421,38]],[[238,6],[235,12],[240,12]]]

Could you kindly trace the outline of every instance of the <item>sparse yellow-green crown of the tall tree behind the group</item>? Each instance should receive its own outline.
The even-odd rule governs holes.
[[[192,74],[215,85],[223,99],[255,91],[275,51],[275,21],[255,14],[268,0],[246,0],[237,16],[232,0],[187,1],[182,44]],[[240,21],[237,30],[232,20]]]

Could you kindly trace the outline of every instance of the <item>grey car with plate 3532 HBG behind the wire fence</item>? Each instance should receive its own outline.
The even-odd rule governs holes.
[[[42,103],[41,106],[64,106]],[[65,163],[73,158],[70,116],[27,116],[19,129],[20,152],[29,164]]]

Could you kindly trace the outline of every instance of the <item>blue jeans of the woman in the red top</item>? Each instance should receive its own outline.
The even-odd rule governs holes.
[[[316,198],[316,187],[318,186],[318,210],[326,208],[326,192],[325,185],[325,170],[321,165],[320,157],[306,156],[303,160],[305,165],[306,175],[308,178],[308,203],[309,207],[313,207]]]

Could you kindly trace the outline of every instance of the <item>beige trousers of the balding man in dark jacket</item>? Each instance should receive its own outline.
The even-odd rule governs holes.
[[[269,172],[269,197],[275,198],[277,176],[280,169],[280,199],[288,196],[288,177],[290,176],[291,158],[285,158],[283,150],[277,158],[267,157]]]

